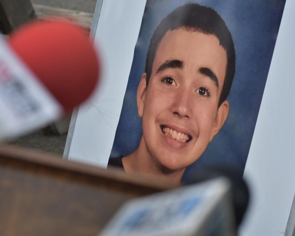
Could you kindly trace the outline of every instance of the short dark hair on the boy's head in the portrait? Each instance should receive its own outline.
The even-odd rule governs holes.
[[[218,106],[220,106],[229,94],[233,82],[233,76],[235,74],[236,55],[233,38],[220,15],[218,15],[212,8],[201,6],[199,4],[190,3],[176,8],[157,26],[150,41],[146,56],[146,86],[149,84],[153,61],[161,39],[168,30],[176,30],[179,28],[195,30],[204,34],[213,34],[219,39],[220,46],[225,49],[227,65],[224,84],[218,102]]]

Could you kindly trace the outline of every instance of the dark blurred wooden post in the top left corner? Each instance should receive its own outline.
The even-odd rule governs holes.
[[[30,0],[0,0],[2,33],[9,33],[23,23],[36,18]]]

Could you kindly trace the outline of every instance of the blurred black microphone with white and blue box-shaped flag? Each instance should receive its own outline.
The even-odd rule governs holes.
[[[126,203],[100,236],[236,236],[249,201],[243,179],[218,169],[185,184]]]

